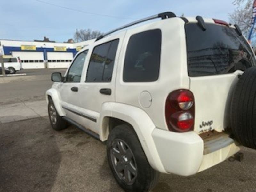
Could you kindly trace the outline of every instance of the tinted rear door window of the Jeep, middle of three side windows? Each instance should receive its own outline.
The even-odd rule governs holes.
[[[111,81],[118,42],[116,39],[93,49],[87,70],[87,82]]]

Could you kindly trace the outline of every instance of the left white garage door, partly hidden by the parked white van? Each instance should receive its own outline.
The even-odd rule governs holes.
[[[12,56],[20,57],[22,68],[44,68],[43,52],[13,51]]]

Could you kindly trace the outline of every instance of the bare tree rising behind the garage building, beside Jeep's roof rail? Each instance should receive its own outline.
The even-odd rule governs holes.
[[[75,42],[86,41],[90,39],[95,39],[101,35],[103,35],[103,33],[100,31],[92,31],[91,29],[76,29],[76,32],[74,34],[74,40]]]

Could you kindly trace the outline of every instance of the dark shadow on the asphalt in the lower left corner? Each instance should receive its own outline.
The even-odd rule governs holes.
[[[49,123],[0,124],[0,132],[0,191],[51,191],[61,154]]]

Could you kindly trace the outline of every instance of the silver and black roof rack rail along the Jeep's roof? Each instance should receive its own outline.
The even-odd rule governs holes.
[[[142,23],[142,22],[145,22],[145,21],[148,21],[148,20],[152,20],[152,19],[156,19],[156,18],[161,18],[161,19],[166,19],[166,18],[171,18],[171,17],[176,17],[176,15],[173,13],[173,12],[163,12],[163,13],[159,13],[157,15],[152,15],[150,17],[146,17],[146,18],[143,18],[143,19],[140,19],[140,20],[137,20],[137,21],[134,21],[132,23],[129,23],[127,25],[124,25],[122,27],[119,27],[119,28],[116,28],[116,29],[113,29],[107,33],[104,33],[103,35],[97,37],[97,39],[95,41],[98,41],[99,39],[102,39],[103,37],[111,34],[111,33],[114,33],[116,31],[119,31],[121,29],[124,29],[124,28],[127,28],[127,27],[130,27],[132,25],[136,25],[138,23]]]

